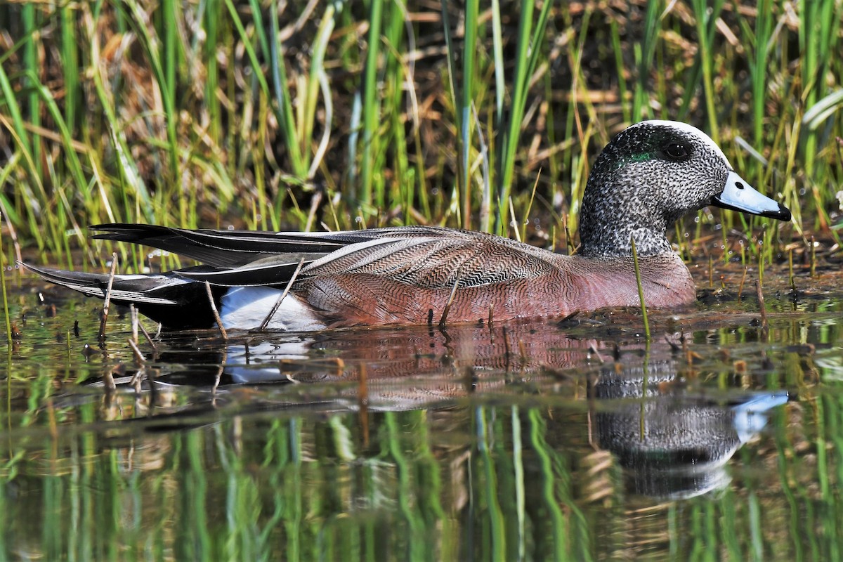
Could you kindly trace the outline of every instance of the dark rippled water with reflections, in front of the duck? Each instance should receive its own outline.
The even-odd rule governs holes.
[[[739,273],[651,311],[649,345],[612,310],[187,333],[141,339],[142,364],[127,318],[99,345],[99,302],[13,288],[0,552],[840,559],[840,273],[794,296],[768,269],[766,326]]]

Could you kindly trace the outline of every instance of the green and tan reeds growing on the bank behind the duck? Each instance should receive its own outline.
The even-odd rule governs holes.
[[[93,263],[105,249],[85,227],[115,221],[427,222],[562,247],[599,148],[665,118],[708,131],[794,211],[793,227],[702,213],[690,240],[722,220],[730,248],[735,221],[734,251],[770,260],[792,232],[839,235],[841,12],[834,0],[3,3],[0,212],[16,245],[62,262],[83,248]]]

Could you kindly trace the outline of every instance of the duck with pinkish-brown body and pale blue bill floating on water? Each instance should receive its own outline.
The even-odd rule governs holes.
[[[94,238],[201,264],[114,276],[111,301],[134,304],[164,329],[222,323],[224,329],[312,331],[638,307],[632,240],[646,306],[687,306],[695,302],[695,284],[666,233],[679,217],[706,206],[791,220],[791,211],[754,190],[704,132],[646,120],[620,131],[594,161],[573,254],[433,226],[325,233],[127,223],[91,228]],[[109,286],[107,274],[23,265],[87,296],[105,298]]]

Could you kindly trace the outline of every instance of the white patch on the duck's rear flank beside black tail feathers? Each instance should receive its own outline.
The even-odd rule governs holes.
[[[220,317],[226,329],[258,329],[282,295],[281,289],[266,286],[239,286],[223,295]],[[325,322],[298,298],[287,293],[266,329],[307,332],[325,329]]]

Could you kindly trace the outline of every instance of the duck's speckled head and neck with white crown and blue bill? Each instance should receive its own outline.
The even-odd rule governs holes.
[[[789,221],[791,212],[750,187],[699,129],[677,121],[642,121],[603,149],[588,177],[580,219],[580,253],[630,256],[672,249],[665,231],[677,218],[720,206]]]

